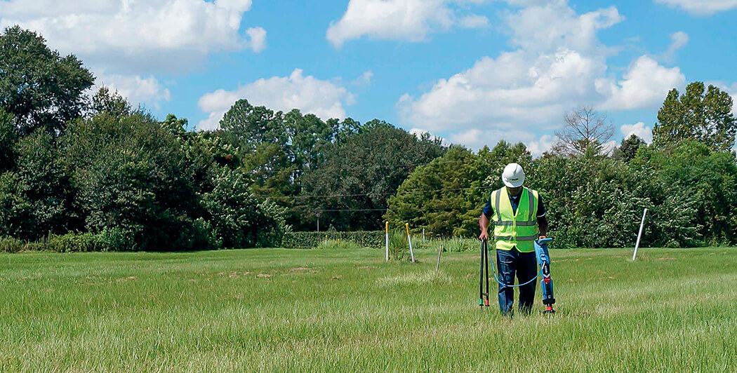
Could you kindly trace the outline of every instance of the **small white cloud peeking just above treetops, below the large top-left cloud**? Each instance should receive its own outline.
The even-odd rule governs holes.
[[[128,99],[133,105],[144,104],[151,105],[156,109],[160,108],[162,102],[171,99],[171,93],[153,76],[127,76],[127,75],[98,75],[97,87],[95,92],[102,85],[117,90],[121,96]]]

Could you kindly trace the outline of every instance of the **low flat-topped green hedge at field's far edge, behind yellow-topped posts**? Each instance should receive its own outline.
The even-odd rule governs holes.
[[[350,241],[360,247],[384,246],[383,230],[364,230],[358,232],[287,232],[284,234],[282,246],[299,249],[311,249],[324,241]]]

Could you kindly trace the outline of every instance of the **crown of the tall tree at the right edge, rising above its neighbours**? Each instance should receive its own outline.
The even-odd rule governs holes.
[[[705,88],[702,82],[689,84],[682,95],[673,88],[657,113],[654,146],[674,148],[694,140],[718,152],[729,151],[737,132],[732,104],[727,92],[713,85]]]

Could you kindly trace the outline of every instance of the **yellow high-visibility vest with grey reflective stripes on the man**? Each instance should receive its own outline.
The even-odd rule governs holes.
[[[534,252],[537,240],[537,191],[523,188],[517,213],[511,208],[507,188],[492,192],[494,204],[494,239],[497,249],[511,250],[517,246],[520,252]]]

